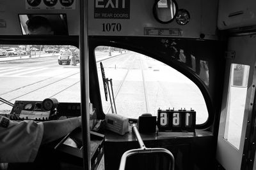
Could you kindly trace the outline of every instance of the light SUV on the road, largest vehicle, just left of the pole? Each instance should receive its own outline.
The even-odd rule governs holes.
[[[58,57],[58,63],[61,65],[63,63],[67,63],[68,65],[71,62],[71,57],[76,58],[76,62],[80,62],[79,53],[71,52],[70,50],[61,52],[61,55]]]

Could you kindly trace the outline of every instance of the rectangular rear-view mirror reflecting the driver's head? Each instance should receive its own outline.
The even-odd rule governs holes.
[[[19,14],[22,35],[68,35],[66,14]]]

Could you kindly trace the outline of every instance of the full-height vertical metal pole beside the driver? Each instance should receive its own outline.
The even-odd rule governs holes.
[[[88,1],[80,0],[79,48],[81,56],[81,117],[83,132],[84,170],[91,169],[89,127],[89,50],[88,50]]]

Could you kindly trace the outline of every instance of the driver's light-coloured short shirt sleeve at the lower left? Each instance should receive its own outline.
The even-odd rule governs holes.
[[[0,162],[33,162],[43,134],[42,123],[13,122],[0,116]]]

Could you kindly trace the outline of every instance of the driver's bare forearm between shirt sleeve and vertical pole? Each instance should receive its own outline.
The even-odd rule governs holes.
[[[64,120],[52,120],[43,122],[44,135],[42,143],[49,143],[59,139],[77,127],[81,126],[81,117],[67,118]]]

